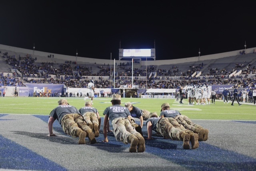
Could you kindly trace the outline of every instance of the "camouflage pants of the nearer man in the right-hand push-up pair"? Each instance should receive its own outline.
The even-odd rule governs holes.
[[[193,131],[185,129],[172,117],[162,117],[156,125],[156,131],[164,137],[177,141],[183,141],[182,133],[194,134]]]

